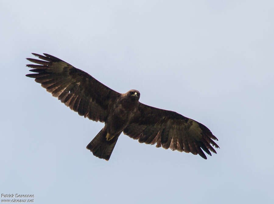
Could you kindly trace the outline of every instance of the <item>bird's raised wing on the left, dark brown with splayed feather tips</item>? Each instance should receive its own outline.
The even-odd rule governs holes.
[[[26,65],[33,68],[27,77],[35,78],[37,83],[47,89],[54,97],[58,97],[70,109],[91,120],[104,122],[108,112],[120,93],[108,88],[91,75],[80,69],[44,53],[38,59],[27,58],[39,65]]]

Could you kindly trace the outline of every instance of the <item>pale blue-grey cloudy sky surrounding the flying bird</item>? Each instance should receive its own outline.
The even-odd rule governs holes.
[[[35,203],[274,203],[273,1],[0,2],[0,194]],[[207,160],[121,135],[108,162],[86,145],[104,124],[25,77],[48,53],[118,92],[206,125]]]

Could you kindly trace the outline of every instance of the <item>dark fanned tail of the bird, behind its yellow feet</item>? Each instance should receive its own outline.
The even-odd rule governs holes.
[[[113,139],[109,141],[107,141],[106,135],[107,131],[104,128],[101,129],[101,131],[95,136],[95,138],[86,146],[86,149],[89,149],[94,156],[108,161],[119,135],[116,135]]]

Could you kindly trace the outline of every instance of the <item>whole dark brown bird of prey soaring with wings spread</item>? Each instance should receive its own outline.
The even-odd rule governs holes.
[[[213,146],[219,148],[213,141],[218,139],[205,125],[177,112],[140,103],[139,91],[118,93],[57,57],[32,54],[41,60],[26,58],[35,63],[26,65],[32,68],[30,72],[35,72],[27,77],[35,78],[79,115],[105,123],[86,146],[94,156],[109,160],[122,132],[141,143],[199,154],[204,159],[204,152],[211,156],[210,151],[216,153]]]

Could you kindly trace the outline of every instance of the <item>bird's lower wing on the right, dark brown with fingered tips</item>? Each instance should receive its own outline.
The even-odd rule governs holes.
[[[211,156],[210,151],[216,153],[212,145],[219,148],[213,141],[218,139],[205,125],[176,112],[142,103],[139,103],[136,115],[125,128],[124,134],[141,143],[157,143],[156,147],[191,152],[204,159],[207,158],[202,149]]]

